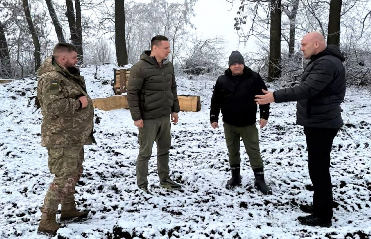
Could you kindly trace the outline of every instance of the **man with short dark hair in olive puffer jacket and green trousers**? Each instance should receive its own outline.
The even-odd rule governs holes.
[[[169,176],[169,149],[171,144],[170,117],[178,122],[179,101],[174,67],[167,56],[169,40],[158,35],[151,40],[151,50],[144,51],[140,61],[130,69],[128,105],[139,130],[139,154],[137,158],[137,185],[148,191],[148,161],[153,143],[157,144],[157,172],[160,185],[167,189],[180,189]]]

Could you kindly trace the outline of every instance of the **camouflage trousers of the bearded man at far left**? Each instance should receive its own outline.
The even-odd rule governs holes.
[[[55,176],[40,210],[54,213],[59,204],[75,201],[75,185],[83,174],[84,147],[47,148],[47,151],[49,170]]]

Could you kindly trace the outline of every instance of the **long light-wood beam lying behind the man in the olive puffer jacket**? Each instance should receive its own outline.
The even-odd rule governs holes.
[[[178,95],[179,106],[181,111],[200,111],[201,101],[200,96],[193,95]],[[117,110],[129,109],[126,95],[115,95],[106,98],[92,99],[94,108],[100,110]]]

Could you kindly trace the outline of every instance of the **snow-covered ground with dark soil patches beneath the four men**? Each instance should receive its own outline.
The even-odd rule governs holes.
[[[92,98],[113,95],[113,65],[82,69]],[[149,165],[149,189],[138,190],[135,162],[138,130],[129,110],[95,110],[97,145],[85,147],[84,173],[76,187],[79,208],[92,210],[81,223],[66,224],[55,238],[369,238],[371,235],[371,97],[348,89],[342,104],[346,125],[334,140],[331,173],[337,202],[333,227],[302,226],[298,205],[311,203],[302,127],[295,103],[271,105],[260,130],[265,175],[273,195],[254,187],[253,172],[241,144],[242,186],[224,185],[230,177],[223,127],[209,123],[215,78],[179,77],[178,94],[201,95],[200,112],[180,112],[172,126],[170,169],[182,191],[159,187],[156,148]],[[52,176],[41,147],[36,79],[0,84],[0,238],[37,235],[38,209]],[[271,89],[278,88],[271,85]],[[221,123],[222,125],[222,123]]]

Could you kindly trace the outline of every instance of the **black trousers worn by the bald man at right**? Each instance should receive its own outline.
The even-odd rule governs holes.
[[[332,219],[332,184],[330,153],[339,129],[304,127],[308,148],[308,171],[313,193],[313,214],[322,220]]]

